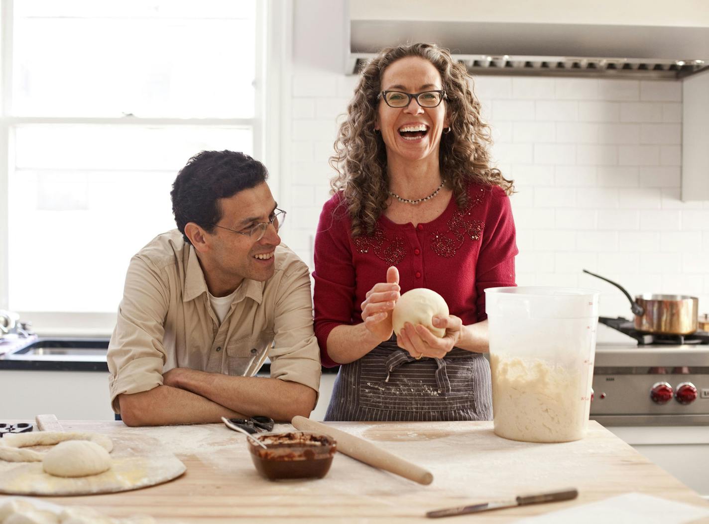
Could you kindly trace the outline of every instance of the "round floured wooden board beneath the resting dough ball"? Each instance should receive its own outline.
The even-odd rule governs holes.
[[[113,467],[107,472],[77,478],[45,473],[41,462],[0,461],[0,493],[12,495],[90,495],[115,493],[167,482],[186,467],[150,437],[111,435]],[[35,447],[37,450],[47,446]]]

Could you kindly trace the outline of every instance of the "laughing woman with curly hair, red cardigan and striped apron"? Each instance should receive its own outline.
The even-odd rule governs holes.
[[[340,364],[325,420],[490,420],[485,295],[515,285],[512,182],[489,166],[489,129],[466,69],[429,44],[389,48],[362,72],[315,245],[315,330]],[[401,293],[443,296],[445,336],[406,324]]]

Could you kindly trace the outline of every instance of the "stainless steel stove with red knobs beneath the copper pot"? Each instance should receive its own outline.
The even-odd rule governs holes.
[[[671,338],[640,333],[626,318],[598,321],[592,420],[709,425],[709,333]]]

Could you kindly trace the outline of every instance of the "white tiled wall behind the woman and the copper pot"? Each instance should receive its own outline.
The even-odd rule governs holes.
[[[284,240],[312,267],[336,118],[357,78],[342,74],[340,2],[296,0],[294,13],[294,206]],[[601,315],[629,316],[620,291],[585,267],[631,294],[700,296],[709,312],[709,202],[679,200],[680,82],[476,77],[474,87],[498,167],[518,189],[518,284],[601,289]]]

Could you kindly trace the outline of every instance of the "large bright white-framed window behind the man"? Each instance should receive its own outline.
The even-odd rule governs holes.
[[[0,308],[114,318],[186,160],[263,156],[267,3],[0,2]]]

